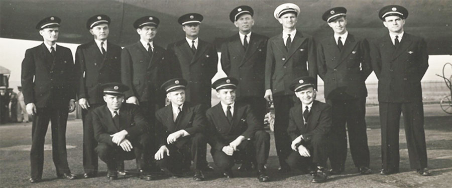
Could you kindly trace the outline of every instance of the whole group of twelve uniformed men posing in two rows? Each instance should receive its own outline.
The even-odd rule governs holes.
[[[192,162],[193,179],[204,180],[203,171],[211,169],[206,162],[209,143],[213,162],[225,177],[233,177],[232,167],[240,162],[239,170],[254,167],[259,181],[269,181],[265,164],[270,135],[263,125],[267,101],[275,107],[280,172],[300,169],[313,175],[312,182],[342,173],[347,130],[358,171],[370,174],[364,81],[372,70],[379,78],[380,174],[398,172],[403,112],[411,167],[429,175],[420,87],[428,55],[423,38],[403,31],[406,8],[388,5],[380,10],[389,37],[386,33],[375,42],[347,31],[344,7],[322,15],[334,34],[319,42],[296,29],[299,13],[296,4],[279,5],[274,17],[282,32],[268,38],[252,31],[252,7],[234,8],[230,20],[239,33],[221,46],[221,66],[228,77],[212,84],[218,56],[213,44],[198,37],[199,13],[180,16],[186,37],[166,49],[154,43],[160,23],[155,16],[137,19],[133,26],[139,41],[121,49],[107,41],[110,18],[94,15],[86,24],[94,39],[78,46],[75,64],[70,49],[56,44],[61,19],[41,20],[36,28],[44,42],[28,49],[22,62],[25,103],[33,115],[30,181],[41,181],[49,119],[57,175],[76,178],[65,148],[67,114],[76,99],[82,107],[84,178],[97,175],[99,156],[109,179],[124,173],[124,160],[136,158],[145,180],[160,170],[184,175]],[[325,83],[327,104],[315,100],[317,75]],[[220,98],[213,107],[211,88]]]

